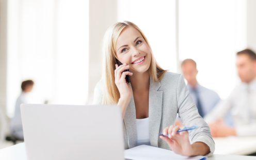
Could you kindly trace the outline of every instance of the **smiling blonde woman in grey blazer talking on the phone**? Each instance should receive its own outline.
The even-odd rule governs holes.
[[[135,24],[124,21],[109,27],[104,52],[103,77],[95,87],[94,104],[121,107],[125,149],[146,144],[184,156],[214,152],[209,127],[189,97],[183,77],[157,65],[147,38]],[[185,126],[198,129],[177,133],[177,113]],[[158,136],[161,133],[168,137]]]

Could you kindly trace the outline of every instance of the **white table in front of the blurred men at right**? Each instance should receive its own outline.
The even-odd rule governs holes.
[[[214,138],[214,142],[215,154],[248,155],[256,153],[256,137]]]

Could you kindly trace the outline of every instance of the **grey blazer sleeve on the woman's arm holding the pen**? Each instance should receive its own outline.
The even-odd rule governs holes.
[[[215,143],[211,136],[210,128],[199,115],[197,107],[189,95],[182,75],[180,75],[177,84],[177,102],[179,117],[183,125],[186,127],[193,125],[198,126],[198,129],[189,131],[190,143],[204,142],[210,148],[210,153],[206,156],[212,155],[215,150]]]

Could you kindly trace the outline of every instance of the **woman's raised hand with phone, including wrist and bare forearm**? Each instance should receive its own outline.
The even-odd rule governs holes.
[[[127,83],[125,80],[126,75],[132,76],[133,73],[129,71],[125,71],[129,69],[129,66],[126,65],[125,63],[123,65],[116,65],[116,70],[115,70],[115,84],[119,90],[120,93],[120,99],[118,101],[118,105],[121,107],[122,111],[122,117],[124,118],[125,116],[125,111],[130,103],[130,100],[133,95],[133,90],[131,84]]]

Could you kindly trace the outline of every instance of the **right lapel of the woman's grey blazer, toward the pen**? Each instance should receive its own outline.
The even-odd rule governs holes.
[[[162,118],[163,91],[158,91],[161,83],[153,82],[150,77],[149,87],[149,137],[151,146],[158,147],[158,135]]]

